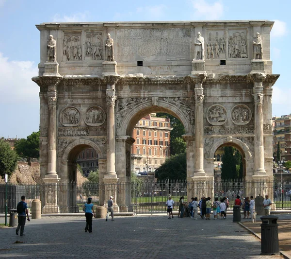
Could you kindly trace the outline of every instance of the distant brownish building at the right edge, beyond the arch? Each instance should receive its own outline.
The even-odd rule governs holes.
[[[277,145],[280,142],[281,160],[291,160],[291,115],[272,118],[273,121],[273,156],[277,158]]]

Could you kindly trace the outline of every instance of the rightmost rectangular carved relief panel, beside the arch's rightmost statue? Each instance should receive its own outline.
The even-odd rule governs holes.
[[[246,30],[228,31],[228,58],[247,58]]]

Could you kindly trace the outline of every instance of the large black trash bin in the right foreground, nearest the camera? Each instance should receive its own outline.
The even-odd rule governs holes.
[[[260,217],[261,255],[279,255],[278,217],[273,215]]]

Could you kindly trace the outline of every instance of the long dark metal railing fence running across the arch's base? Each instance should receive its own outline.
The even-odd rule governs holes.
[[[273,209],[291,209],[291,182],[273,181],[158,181],[143,183],[117,184],[36,184],[7,186],[8,209],[16,208],[21,196],[26,196],[28,207],[33,199],[42,201],[43,213],[76,213],[81,212],[88,197],[92,197],[96,206],[103,206],[109,196],[114,196],[116,210],[120,212],[163,213],[169,195],[178,205],[179,198],[184,196],[185,202],[191,197],[209,196],[211,201],[227,197],[232,209],[237,195],[242,197],[269,194],[273,198]],[[178,206],[174,207],[178,211]],[[0,185],[0,213],[5,212],[5,185]]]

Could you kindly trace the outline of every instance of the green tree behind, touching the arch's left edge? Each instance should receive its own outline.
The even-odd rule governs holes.
[[[16,141],[16,153],[21,157],[39,158],[39,131],[32,132],[27,138],[21,138]]]

